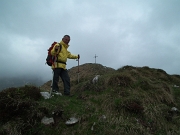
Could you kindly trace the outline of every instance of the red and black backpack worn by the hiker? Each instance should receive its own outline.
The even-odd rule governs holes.
[[[48,51],[48,55],[46,58],[46,63],[48,64],[48,66],[52,66],[53,63],[55,62],[56,57],[51,55],[51,50],[53,49],[54,45],[57,44],[57,42],[54,41],[54,43],[52,43],[51,47],[49,47]],[[60,44],[60,50],[61,50],[61,44]]]

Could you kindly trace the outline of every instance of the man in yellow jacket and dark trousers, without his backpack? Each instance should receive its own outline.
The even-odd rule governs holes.
[[[70,95],[70,77],[66,69],[67,58],[69,59],[79,59],[80,55],[72,55],[67,49],[69,47],[70,36],[65,35],[60,41],[60,44],[55,44],[51,50],[51,55],[57,56],[53,69],[53,83],[52,92],[59,93],[58,81],[59,76],[61,77],[64,84],[64,95]]]

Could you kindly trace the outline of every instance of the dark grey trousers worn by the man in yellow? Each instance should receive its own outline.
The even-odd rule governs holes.
[[[59,86],[58,86],[59,77],[61,77],[64,84],[64,94],[69,95],[70,94],[70,78],[69,78],[67,70],[63,68],[55,68],[53,70],[52,89],[55,91],[59,91]]]

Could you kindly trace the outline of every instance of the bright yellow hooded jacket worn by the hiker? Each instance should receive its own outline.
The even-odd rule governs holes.
[[[62,46],[62,47],[59,47],[61,50],[58,49],[58,51],[56,52],[55,47],[60,46],[60,44]],[[69,58],[69,59],[77,59],[78,58],[78,55],[72,55],[67,50],[69,45],[65,44],[63,41],[61,41],[60,44],[59,43],[55,44],[53,49],[51,50],[51,55],[57,56],[54,64],[52,65],[52,69],[54,69],[54,68],[66,69],[66,64],[65,63],[67,62],[67,58]],[[56,62],[56,61],[58,61],[58,62]]]

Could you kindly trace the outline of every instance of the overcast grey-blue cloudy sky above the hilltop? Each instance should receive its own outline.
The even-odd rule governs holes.
[[[80,65],[180,74],[180,0],[0,0],[0,76],[51,79],[47,49],[65,34]],[[68,60],[67,68],[77,66]]]

